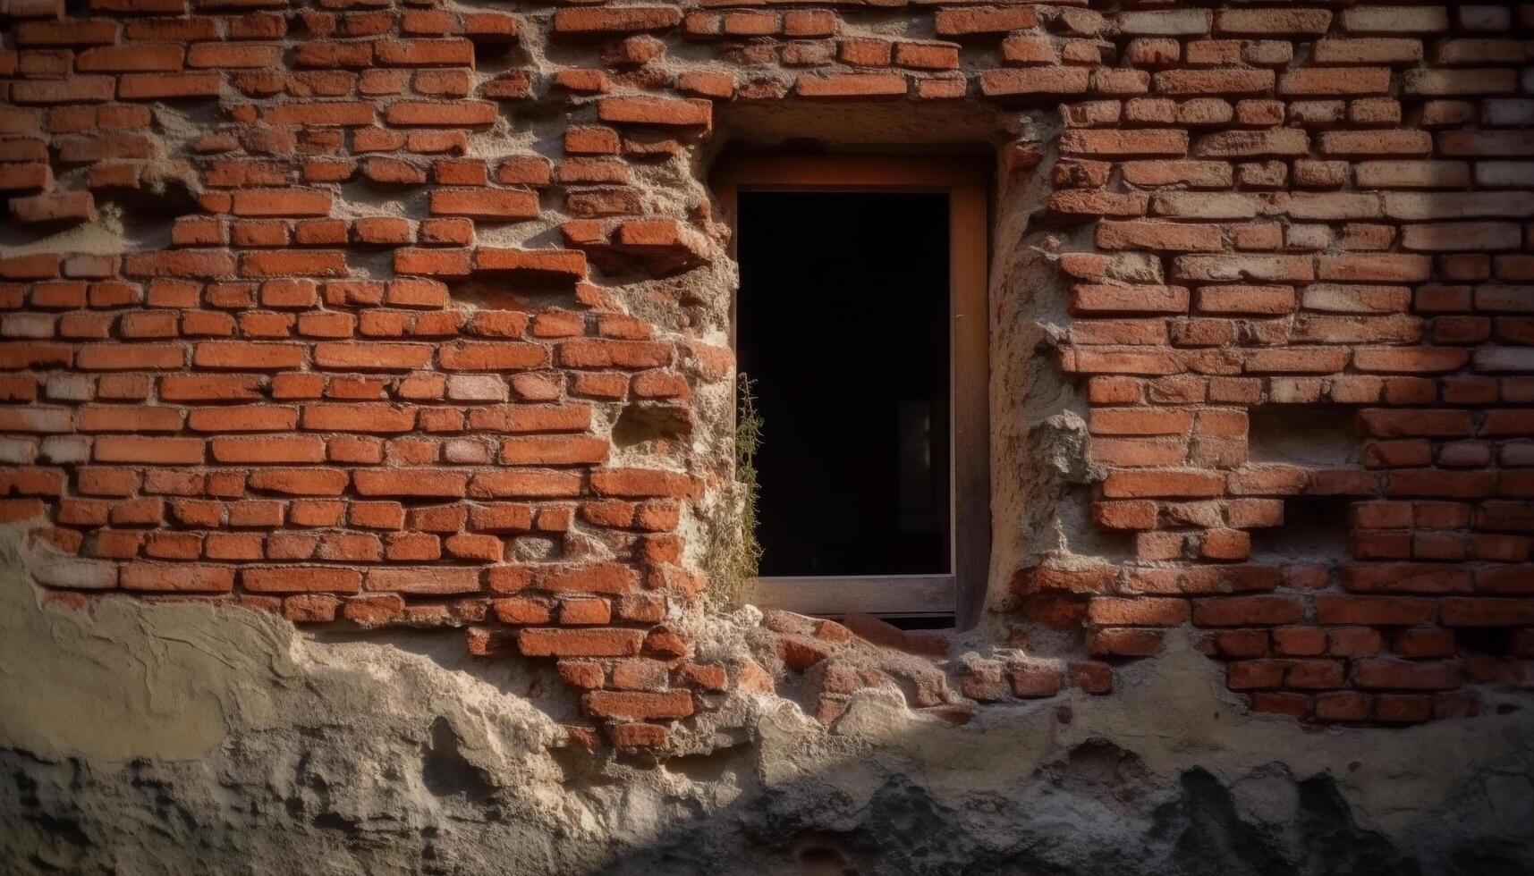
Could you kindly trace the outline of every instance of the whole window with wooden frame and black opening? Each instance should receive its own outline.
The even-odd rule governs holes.
[[[989,551],[983,173],[776,156],[718,181],[764,419],[756,603],[968,626]]]

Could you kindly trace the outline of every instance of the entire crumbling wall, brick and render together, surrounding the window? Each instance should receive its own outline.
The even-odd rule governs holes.
[[[8,862],[1534,868],[1534,6],[0,25]],[[752,150],[992,170],[977,629],[729,604]]]

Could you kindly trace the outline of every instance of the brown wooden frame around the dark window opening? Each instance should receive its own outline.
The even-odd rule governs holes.
[[[762,577],[752,603],[810,615],[954,615],[979,623],[991,565],[989,178],[946,156],[729,156],[712,176],[732,230],[741,192],[943,192],[948,195],[950,572],[942,575]],[[735,258],[735,235],[730,236]],[[735,304],[730,307],[735,336]]]

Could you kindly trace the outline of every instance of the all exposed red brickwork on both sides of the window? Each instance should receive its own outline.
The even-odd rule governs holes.
[[[1069,284],[1055,362],[1127,555],[996,581],[1077,654],[999,637],[914,701],[1106,693],[1180,626],[1256,709],[1307,720],[1463,715],[1529,683],[1534,6],[3,15],[0,509],[58,598],[468,626],[479,654],[558,658],[618,744],[770,684],[686,634],[707,546],[681,532],[727,454],[614,443],[626,413],[696,422],[730,379],[719,325],[664,287],[724,233],[657,186],[700,172],[733,107],[985,101],[1062,127],[999,173],[1054,187],[1031,229]],[[1287,405],[1356,411],[1361,459],[1249,459],[1249,413]],[[1252,552],[1295,496],[1348,503],[1347,555]],[[822,716],[877,683],[828,670],[845,627],[770,620],[792,667],[821,664]]]

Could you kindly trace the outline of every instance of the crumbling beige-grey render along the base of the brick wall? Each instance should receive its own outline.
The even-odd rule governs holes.
[[[43,598],[0,545],[8,873],[1534,871],[1534,701],[1405,729],[1252,715],[1174,640],[962,727],[730,693],[667,756],[560,747],[551,664],[462,632]],[[750,654],[755,609],[700,647]],[[788,686],[781,686],[788,687]],[[724,697],[724,695],[721,695]]]

